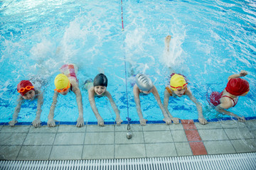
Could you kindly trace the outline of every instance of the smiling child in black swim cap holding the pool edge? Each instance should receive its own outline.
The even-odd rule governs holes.
[[[110,100],[110,104],[114,110],[114,113],[116,114],[115,120],[117,122],[117,125],[121,125],[122,119],[120,118],[120,115],[119,115],[120,111],[117,108],[116,104],[114,103],[114,100],[110,92],[107,91],[107,77],[105,76],[105,74],[102,74],[102,73],[97,74],[93,82],[92,82],[92,79],[88,79],[87,81],[85,81],[85,89],[88,91],[90,106],[97,118],[97,124],[100,126],[104,126],[104,120],[100,116],[100,113],[97,110],[97,107],[95,104],[95,97],[106,96]]]

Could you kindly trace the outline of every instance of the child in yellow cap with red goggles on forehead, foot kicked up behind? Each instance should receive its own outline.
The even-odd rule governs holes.
[[[169,52],[169,43],[171,41],[171,35],[166,36],[165,38],[165,47],[166,52]],[[186,82],[186,79],[181,74],[171,74],[170,84],[169,86],[166,86],[166,89],[164,91],[164,108],[166,109],[169,117],[173,117],[171,113],[168,110],[168,104],[169,104],[169,98],[172,97],[181,97],[181,96],[188,96],[188,98],[193,101],[193,103],[196,104],[196,109],[198,111],[198,120],[199,123],[202,125],[206,125],[208,122],[203,117],[203,109],[201,106],[201,103],[199,103],[196,98],[193,96],[190,89],[188,89],[188,83]],[[179,123],[178,120],[174,120],[174,123]]]

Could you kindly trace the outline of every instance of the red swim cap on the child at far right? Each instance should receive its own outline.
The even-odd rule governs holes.
[[[245,79],[235,78],[228,81],[225,90],[228,91],[228,93],[230,94],[240,96],[242,94],[245,94],[245,92],[249,91],[250,86],[248,81],[246,81]]]

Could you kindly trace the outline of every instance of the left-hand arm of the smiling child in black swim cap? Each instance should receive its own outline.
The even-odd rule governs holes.
[[[92,108],[93,113],[95,113],[95,117],[97,118],[97,124],[100,126],[104,126],[104,120],[100,116],[99,111],[97,110],[96,104],[95,104],[95,91],[94,87],[92,86],[88,91],[90,106]]]

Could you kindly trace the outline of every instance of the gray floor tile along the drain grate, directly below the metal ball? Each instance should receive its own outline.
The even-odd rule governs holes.
[[[115,159],[146,157],[144,144],[114,145]]]

